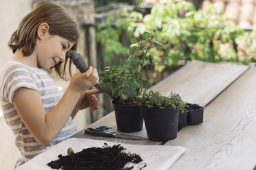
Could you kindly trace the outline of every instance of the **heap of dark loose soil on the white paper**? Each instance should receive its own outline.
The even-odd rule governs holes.
[[[139,164],[142,158],[138,154],[130,154],[125,150],[120,144],[109,146],[104,143],[103,147],[89,147],[67,156],[58,155],[58,160],[52,160],[47,165],[52,169],[63,170],[131,170],[136,164],[138,169],[147,167],[146,164]]]

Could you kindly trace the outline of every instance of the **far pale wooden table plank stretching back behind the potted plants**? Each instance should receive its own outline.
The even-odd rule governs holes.
[[[247,69],[248,66],[193,60],[151,89],[162,95],[173,91],[184,101],[206,106]]]

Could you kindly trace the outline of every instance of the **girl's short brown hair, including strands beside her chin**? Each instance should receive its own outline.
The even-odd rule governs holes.
[[[15,53],[17,49],[22,49],[24,56],[30,56],[34,52],[36,45],[37,29],[41,23],[49,25],[49,33],[58,35],[67,40],[74,42],[72,47],[76,50],[78,44],[78,29],[70,14],[52,1],[41,1],[36,5],[36,8],[25,16],[18,29],[12,34],[8,46]],[[65,62],[54,66],[56,73],[66,79],[65,67],[67,65],[67,55]],[[70,66],[71,68],[71,61]],[[71,73],[71,69],[70,73]]]

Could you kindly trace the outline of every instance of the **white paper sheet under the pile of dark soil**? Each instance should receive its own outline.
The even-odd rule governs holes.
[[[98,141],[86,138],[69,138],[66,141],[54,145],[42,154],[29,160],[24,165],[21,165],[17,170],[50,170],[47,166],[48,162],[58,159],[58,155],[67,155],[67,149],[72,147],[74,152],[81,151],[88,147],[102,147],[104,143],[107,145],[121,144],[128,152],[132,154],[139,154],[142,162],[137,167],[147,164],[147,167],[142,170],[169,169],[173,163],[186,151],[184,147],[170,146],[170,145],[129,145],[125,143],[113,143],[107,141]],[[136,166],[134,170],[136,170]],[[138,168],[137,168],[138,169]]]

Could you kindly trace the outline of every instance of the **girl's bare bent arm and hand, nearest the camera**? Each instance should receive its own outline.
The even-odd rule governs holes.
[[[81,93],[97,83],[98,74],[92,67],[85,73],[76,73],[61,101],[47,114],[38,91],[30,88],[19,88],[14,93],[12,104],[34,139],[43,145],[49,145],[67,123]]]

